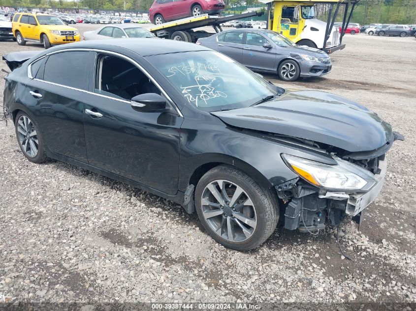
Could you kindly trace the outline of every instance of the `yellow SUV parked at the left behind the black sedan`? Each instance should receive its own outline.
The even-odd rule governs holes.
[[[59,17],[49,14],[17,13],[12,22],[13,35],[19,45],[26,41],[52,45],[79,41],[79,31],[67,26]]]

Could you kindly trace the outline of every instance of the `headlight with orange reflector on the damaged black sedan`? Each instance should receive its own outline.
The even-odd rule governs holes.
[[[336,165],[327,165],[288,154],[282,155],[288,167],[309,183],[332,191],[368,191],[375,184],[374,175],[334,157]]]

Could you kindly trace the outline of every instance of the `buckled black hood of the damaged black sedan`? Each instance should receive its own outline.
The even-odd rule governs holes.
[[[315,90],[286,91],[264,104],[212,114],[233,127],[317,141],[349,152],[375,150],[392,135],[391,126],[376,113]]]

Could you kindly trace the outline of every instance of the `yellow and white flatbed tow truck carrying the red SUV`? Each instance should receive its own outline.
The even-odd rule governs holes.
[[[352,12],[359,0],[259,0],[267,4],[267,29],[279,32],[298,45],[318,48],[330,54],[345,48],[342,38],[349,24]],[[315,17],[317,4],[328,5],[327,22]],[[341,31],[333,27],[339,9],[344,6]],[[231,16],[209,16],[203,14],[168,23],[163,23],[149,30],[165,39],[195,43],[199,38],[206,38],[214,33],[194,30],[212,26],[216,33],[223,31],[221,25],[232,20],[261,16],[263,12],[248,12]]]

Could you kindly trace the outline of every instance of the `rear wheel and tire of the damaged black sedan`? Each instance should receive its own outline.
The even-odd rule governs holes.
[[[47,160],[45,145],[37,124],[26,113],[20,111],[15,121],[16,138],[25,157],[34,163]]]

